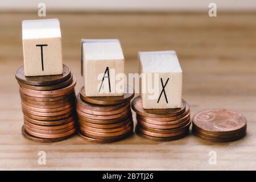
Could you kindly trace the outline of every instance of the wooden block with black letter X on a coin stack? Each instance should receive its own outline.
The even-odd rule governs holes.
[[[181,107],[182,70],[176,52],[139,52],[138,59],[143,108]]]

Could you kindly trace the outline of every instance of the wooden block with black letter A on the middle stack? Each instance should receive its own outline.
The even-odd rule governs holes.
[[[119,40],[82,39],[82,69],[86,96],[123,96],[123,89],[117,88],[124,81],[116,77],[125,74]]]

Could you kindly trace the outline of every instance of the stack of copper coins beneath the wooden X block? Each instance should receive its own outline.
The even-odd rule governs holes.
[[[190,110],[184,100],[181,108],[177,109],[143,109],[141,97],[138,96],[131,107],[137,115],[136,133],[143,138],[170,141],[189,133]]]

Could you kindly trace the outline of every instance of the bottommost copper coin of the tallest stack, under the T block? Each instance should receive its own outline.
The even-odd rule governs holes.
[[[42,142],[42,143],[59,142],[61,140],[65,140],[72,136],[72,135],[69,135],[69,136],[62,137],[62,138],[39,138],[39,137],[35,137],[35,136],[27,133],[24,126],[22,126],[22,135],[29,140],[32,140],[34,142]]]

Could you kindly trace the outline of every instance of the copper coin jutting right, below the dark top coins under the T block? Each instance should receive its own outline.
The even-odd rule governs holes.
[[[72,84],[62,89],[39,91],[39,90],[26,89],[26,88],[23,88],[22,86],[20,86],[19,89],[20,89],[20,92],[32,97],[59,97],[72,92],[75,88],[75,85],[76,85],[76,78],[73,76]]]

